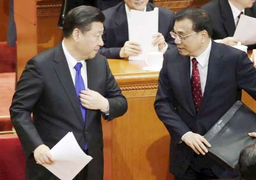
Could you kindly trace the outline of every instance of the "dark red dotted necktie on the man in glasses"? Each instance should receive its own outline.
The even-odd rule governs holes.
[[[192,65],[192,75],[191,75],[191,86],[192,86],[192,94],[193,100],[195,102],[196,111],[198,112],[200,105],[202,103],[202,89],[201,89],[201,82],[200,82],[200,73],[197,68],[198,62],[194,57],[191,59]]]

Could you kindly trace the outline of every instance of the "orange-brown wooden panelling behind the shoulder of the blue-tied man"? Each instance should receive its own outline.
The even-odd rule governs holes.
[[[14,3],[19,79],[31,57],[61,42],[62,31],[57,26],[61,0],[19,0]]]

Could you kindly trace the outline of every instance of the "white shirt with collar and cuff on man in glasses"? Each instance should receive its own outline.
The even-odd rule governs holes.
[[[195,57],[196,61],[198,62],[197,68],[200,74],[200,83],[201,83],[201,89],[202,89],[202,96],[204,98],[204,89],[205,89],[205,84],[207,80],[207,72],[208,72],[208,64],[209,64],[209,57],[210,57],[210,52],[211,52],[211,47],[212,47],[212,41],[209,42],[209,45],[205,49],[205,51],[200,54],[199,56]],[[190,56],[190,61],[194,57]],[[192,75],[192,68],[193,68],[193,63],[192,61],[190,62],[190,77]],[[182,135],[181,140],[184,140],[185,135],[188,133],[191,133],[192,131],[188,131]]]

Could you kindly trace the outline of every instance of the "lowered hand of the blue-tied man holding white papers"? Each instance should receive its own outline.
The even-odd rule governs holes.
[[[34,151],[34,158],[36,163],[40,165],[52,164],[54,162],[49,147],[45,146],[44,144],[36,147]]]

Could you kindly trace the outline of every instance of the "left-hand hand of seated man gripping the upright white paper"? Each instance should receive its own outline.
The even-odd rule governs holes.
[[[126,41],[124,47],[120,50],[120,57],[138,56],[141,54],[141,47],[139,43],[133,41]]]

